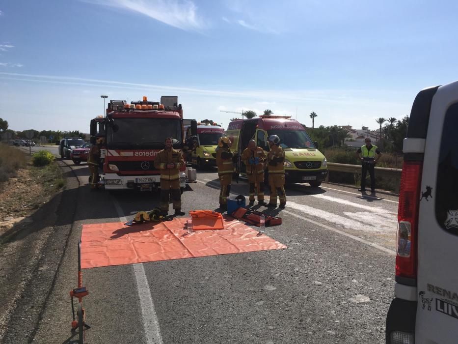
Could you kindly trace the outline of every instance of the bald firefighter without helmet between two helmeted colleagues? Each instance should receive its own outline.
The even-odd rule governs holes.
[[[261,205],[264,202],[264,161],[266,161],[266,153],[264,149],[256,146],[256,141],[250,140],[248,147],[243,150],[242,161],[245,164],[246,176],[248,177],[249,201],[250,205],[254,204],[255,190],[258,194],[258,203]]]

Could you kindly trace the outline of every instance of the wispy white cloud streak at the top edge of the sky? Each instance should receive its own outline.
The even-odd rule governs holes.
[[[86,0],[105,6],[127,9],[143,14],[174,28],[203,29],[204,22],[197,14],[197,6],[189,0]]]

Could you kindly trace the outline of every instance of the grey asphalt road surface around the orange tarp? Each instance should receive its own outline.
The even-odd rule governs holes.
[[[36,295],[42,307],[34,315],[27,313],[32,300],[17,307],[4,343],[69,343],[81,226],[131,219],[159,202],[151,193],[91,192],[85,164],[62,166],[62,227],[54,227],[54,249],[43,253],[50,263],[40,265],[55,266],[55,276],[43,277],[52,279],[51,291]],[[217,174],[197,178],[183,210],[217,208]],[[397,198],[361,197],[331,184],[286,191],[286,209],[273,210],[283,223],[266,234],[287,249],[83,270],[87,343],[383,343]],[[232,193],[247,195],[246,182],[233,182]],[[27,316],[36,321],[25,326]]]

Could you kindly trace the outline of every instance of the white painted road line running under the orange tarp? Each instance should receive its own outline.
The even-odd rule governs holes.
[[[118,217],[122,223],[127,222],[121,206],[118,201],[113,199],[114,208],[118,213]],[[143,263],[133,264],[135,282],[137,286],[137,293],[140,299],[141,316],[143,320],[143,331],[147,344],[162,344],[161,331],[159,329],[158,316],[154,310],[153,298],[151,297],[151,290],[146,279],[145,269]]]

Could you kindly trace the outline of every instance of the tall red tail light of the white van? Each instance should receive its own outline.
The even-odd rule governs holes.
[[[404,161],[398,208],[396,276],[417,278],[421,161]]]

